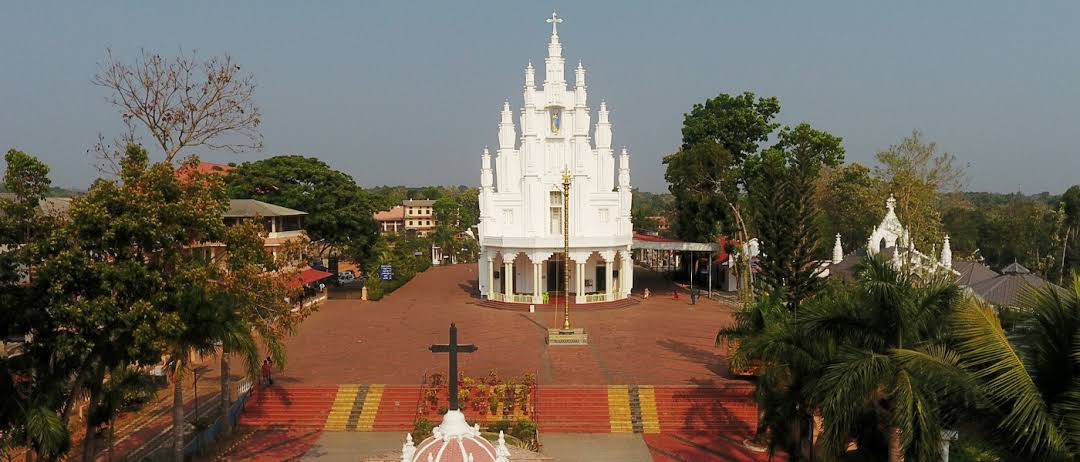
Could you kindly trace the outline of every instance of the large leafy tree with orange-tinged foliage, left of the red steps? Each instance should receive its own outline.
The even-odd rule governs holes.
[[[179,181],[172,165],[150,164],[137,146],[121,165],[118,179],[97,180],[75,198],[63,226],[36,247],[31,288],[40,287],[38,305],[49,309],[32,320],[28,355],[64,367],[65,419],[79,390],[97,416],[109,370],[158,363],[171,339],[191,335],[177,294],[206,280],[192,277],[205,264],[190,245],[218,241],[222,227],[219,179],[216,187],[213,178]],[[85,434],[106,420],[87,420]],[[92,443],[84,441],[86,460]]]

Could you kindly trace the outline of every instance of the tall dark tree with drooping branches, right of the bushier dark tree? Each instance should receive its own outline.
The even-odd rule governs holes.
[[[804,123],[780,131],[775,146],[746,160],[746,190],[764,254],[758,263],[764,288],[781,291],[792,310],[822,283],[815,182],[822,168],[842,162],[840,142]]]

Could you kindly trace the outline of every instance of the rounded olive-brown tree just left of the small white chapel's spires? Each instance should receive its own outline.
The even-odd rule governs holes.
[[[867,210],[879,207],[883,203],[881,198],[888,195],[882,194],[882,189],[881,181],[862,164],[825,168],[816,192],[823,235],[839,233],[847,250],[862,246],[878,221],[878,217]]]

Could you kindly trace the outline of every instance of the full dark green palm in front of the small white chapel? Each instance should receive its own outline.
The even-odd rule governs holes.
[[[883,258],[866,259],[854,284],[812,299],[800,313],[804,335],[833,345],[811,402],[820,406],[820,443],[842,454],[851,440],[889,461],[936,460],[945,388],[962,390],[943,346],[959,288],[944,275],[916,274]],[[878,458],[881,454],[877,456]]]

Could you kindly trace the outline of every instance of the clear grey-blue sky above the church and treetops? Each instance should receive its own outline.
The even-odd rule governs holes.
[[[778,96],[785,123],[842,136],[852,161],[919,128],[970,164],[970,189],[1080,182],[1076,1],[4,1],[0,148],[86,187],[86,148],[121,128],[90,82],[105,49],[197,49],[255,74],[265,121],[264,152],[204,160],[302,153],[364,186],[476,185],[502,100],[519,107],[523,67],[543,60],[553,9],[646,191],[666,190],[660,160],[683,113],[747,90]]]

